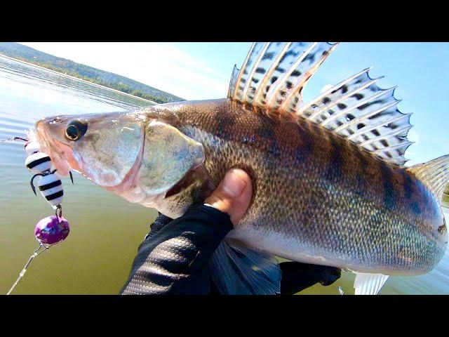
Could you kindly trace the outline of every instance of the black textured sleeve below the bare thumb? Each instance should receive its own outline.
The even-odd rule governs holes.
[[[232,230],[229,215],[201,205],[189,209],[180,218],[165,222],[159,221],[157,225],[156,221],[156,227],[152,226],[139,246],[121,293],[210,293],[208,261]]]

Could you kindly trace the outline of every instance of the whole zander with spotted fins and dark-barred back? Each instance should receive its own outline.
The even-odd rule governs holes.
[[[226,98],[58,115],[34,136],[60,175],[78,171],[170,218],[232,168],[253,181],[246,215],[210,260],[222,293],[279,293],[278,259],[354,272],[356,294],[422,275],[443,257],[449,156],[407,167],[410,114],[370,68],[309,102],[303,89],[338,43],[251,46]]]

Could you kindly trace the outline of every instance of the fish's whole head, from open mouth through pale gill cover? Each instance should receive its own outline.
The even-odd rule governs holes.
[[[204,161],[203,145],[173,124],[147,108],[48,117],[34,133],[61,176],[77,171],[130,202],[158,209]]]

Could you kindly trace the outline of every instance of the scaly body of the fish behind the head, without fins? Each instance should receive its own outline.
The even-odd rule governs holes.
[[[230,237],[291,260],[387,275],[421,274],[441,258],[443,214],[398,166],[309,121],[229,100],[159,108],[204,145],[215,184],[232,167],[250,173],[253,201]]]

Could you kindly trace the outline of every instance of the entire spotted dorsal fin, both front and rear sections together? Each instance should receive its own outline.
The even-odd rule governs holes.
[[[290,112],[338,133],[380,159],[403,165],[412,144],[410,114],[396,107],[394,88],[382,89],[363,70],[304,104],[302,89],[337,44],[256,43],[241,70],[234,67],[228,98]]]

